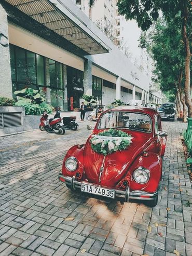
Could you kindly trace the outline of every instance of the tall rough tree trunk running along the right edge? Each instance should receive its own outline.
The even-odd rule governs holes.
[[[182,18],[183,18],[183,24],[182,24],[182,36],[183,36],[183,42],[185,46],[185,102],[188,107],[188,116],[192,117],[192,101],[190,96],[190,59],[191,59],[191,53],[190,53],[190,46],[189,46],[189,40],[187,36],[187,19],[189,15],[188,10],[188,0],[183,1],[183,10],[182,10]]]

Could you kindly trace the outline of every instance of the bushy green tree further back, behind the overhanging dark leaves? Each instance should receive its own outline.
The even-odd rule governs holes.
[[[147,48],[147,51],[155,60],[154,74],[160,83],[162,91],[169,92],[183,104],[183,121],[187,121],[187,107],[184,94],[184,49],[181,42],[178,20],[158,19],[152,29],[140,37],[140,47]],[[177,94],[179,93],[179,97]],[[170,97],[168,97],[170,99]],[[178,106],[177,106],[178,108]]]

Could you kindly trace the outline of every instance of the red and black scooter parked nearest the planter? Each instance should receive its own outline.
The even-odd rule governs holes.
[[[43,113],[42,118],[40,118],[39,129],[41,131],[64,134],[65,133],[65,128],[64,128],[64,125],[61,122],[60,112],[57,111],[57,113],[54,115],[53,118],[48,119],[48,116],[49,115],[45,111]]]

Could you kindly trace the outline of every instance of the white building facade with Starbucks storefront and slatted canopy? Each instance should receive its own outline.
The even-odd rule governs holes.
[[[1,2],[1,96],[32,88],[62,111],[78,108],[84,93],[103,105],[147,103],[146,77],[72,1],[37,2]]]

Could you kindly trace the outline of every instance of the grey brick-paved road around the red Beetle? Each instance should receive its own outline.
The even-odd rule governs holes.
[[[67,149],[88,137],[86,125],[64,136],[0,138],[0,255],[191,256],[192,193],[180,136],[186,124],[163,122],[169,139],[153,209],[87,198],[58,181]]]

